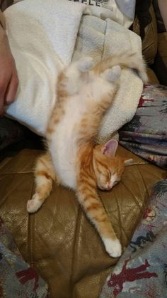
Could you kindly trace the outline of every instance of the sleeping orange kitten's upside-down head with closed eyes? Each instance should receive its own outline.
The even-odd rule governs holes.
[[[125,166],[132,164],[132,159],[115,156],[118,142],[110,139],[104,145],[93,149],[93,169],[96,174],[98,188],[109,191],[121,179]]]

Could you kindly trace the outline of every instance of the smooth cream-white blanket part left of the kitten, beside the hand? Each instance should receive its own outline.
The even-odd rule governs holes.
[[[16,102],[6,113],[38,134],[45,134],[57,73],[71,62],[84,9],[67,0],[24,0],[5,11],[19,78]]]

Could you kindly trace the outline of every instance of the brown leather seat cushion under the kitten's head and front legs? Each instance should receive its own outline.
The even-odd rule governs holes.
[[[100,192],[122,246],[126,247],[142,215],[151,187],[166,171],[119,147],[132,157],[122,181]],[[34,191],[33,166],[38,150],[23,149],[0,164],[0,216],[11,230],[24,259],[50,285],[52,297],[97,298],[117,259],[107,255],[72,191],[54,189],[45,205],[28,215],[26,203]],[[91,296],[90,296],[91,292]]]

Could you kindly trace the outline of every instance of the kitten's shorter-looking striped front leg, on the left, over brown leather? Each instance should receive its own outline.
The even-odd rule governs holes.
[[[42,206],[52,190],[52,182],[56,179],[52,159],[47,152],[40,156],[35,165],[35,194],[28,200],[27,210],[34,213]]]

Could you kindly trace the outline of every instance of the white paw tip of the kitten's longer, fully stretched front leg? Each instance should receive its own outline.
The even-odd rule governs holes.
[[[108,252],[108,255],[110,255],[110,257],[120,257],[122,248],[118,239],[111,240],[110,238],[105,238],[103,242],[105,245],[105,250]]]

